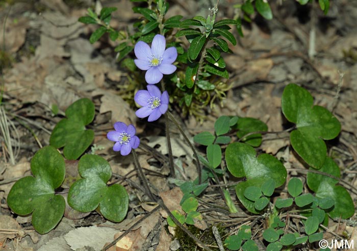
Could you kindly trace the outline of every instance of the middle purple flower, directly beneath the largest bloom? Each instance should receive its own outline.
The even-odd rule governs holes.
[[[160,116],[166,113],[169,106],[169,95],[167,91],[161,94],[159,88],[154,85],[146,86],[146,90],[138,91],[134,100],[139,105],[143,106],[136,111],[136,116],[139,118],[145,118],[149,116],[147,121],[155,121],[160,118]]]

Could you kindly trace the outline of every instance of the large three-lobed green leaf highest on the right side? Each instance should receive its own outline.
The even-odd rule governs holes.
[[[282,109],[296,124],[297,129],[290,133],[292,147],[313,168],[321,168],[327,152],[323,140],[332,140],[340,133],[340,122],[326,108],[313,105],[311,94],[294,83],[284,89]]]

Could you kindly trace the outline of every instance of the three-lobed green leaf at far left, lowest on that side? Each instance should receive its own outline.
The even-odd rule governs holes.
[[[65,163],[54,147],[40,149],[31,160],[34,176],[19,179],[11,188],[7,202],[19,215],[32,214],[32,225],[40,234],[48,233],[61,220],[65,201],[55,195],[65,177]]]

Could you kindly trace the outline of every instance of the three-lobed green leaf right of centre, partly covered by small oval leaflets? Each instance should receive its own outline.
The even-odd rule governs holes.
[[[231,174],[247,179],[236,186],[236,193],[238,199],[252,213],[258,212],[254,204],[245,198],[245,189],[249,186],[261,187],[268,179],[273,179],[275,187],[279,187],[287,177],[287,171],[279,160],[269,154],[256,155],[254,148],[243,143],[232,143],[225,151],[225,161]]]

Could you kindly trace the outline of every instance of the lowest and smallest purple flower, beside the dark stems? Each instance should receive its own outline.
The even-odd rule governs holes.
[[[140,140],[138,136],[135,136],[136,129],[130,124],[127,126],[123,122],[114,123],[115,131],[110,131],[107,133],[107,138],[110,141],[114,141],[113,150],[120,151],[121,155],[128,155],[132,148],[138,148]]]

